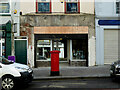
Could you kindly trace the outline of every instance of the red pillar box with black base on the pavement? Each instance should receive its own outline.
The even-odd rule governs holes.
[[[54,50],[51,53],[51,76],[59,76],[59,53],[60,51]]]

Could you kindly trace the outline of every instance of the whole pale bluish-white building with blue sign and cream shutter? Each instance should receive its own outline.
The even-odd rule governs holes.
[[[96,65],[120,59],[120,0],[95,0]]]

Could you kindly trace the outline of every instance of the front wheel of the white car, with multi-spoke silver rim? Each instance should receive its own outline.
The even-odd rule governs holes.
[[[2,78],[2,88],[3,90],[11,90],[15,86],[14,79],[10,76],[5,76]]]

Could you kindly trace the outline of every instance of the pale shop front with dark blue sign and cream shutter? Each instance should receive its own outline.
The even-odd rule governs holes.
[[[120,20],[96,21],[96,63],[112,64],[120,59]]]

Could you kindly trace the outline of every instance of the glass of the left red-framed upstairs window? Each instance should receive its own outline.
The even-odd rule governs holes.
[[[49,3],[38,3],[38,11],[39,12],[49,12],[50,11]]]

